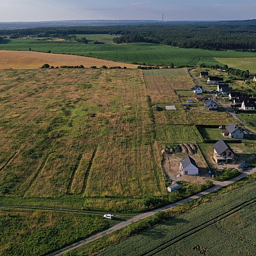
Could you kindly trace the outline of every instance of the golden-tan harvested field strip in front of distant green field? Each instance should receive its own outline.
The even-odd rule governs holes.
[[[13,68],[13,69],[26,69],[26,68],[39,68],[45,63],[50,66],[76,66],[83,65],[85,68],[92,66],[102,67],[127,67],[137,68],[138,65],[128,63],[120,63],[109,60],[100,60],[96,58],[67,55],[67,54],[52,54],[44,52],[30,52],[30,51],[0,51],[0,69]]]

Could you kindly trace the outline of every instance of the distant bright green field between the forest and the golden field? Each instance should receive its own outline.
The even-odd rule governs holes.
[[[82,35],[83,36],[83,35]],[[0,50],[32,51],[75,54],[90,56],[127,63],[147,65],[184,65],[195,66],[200,63],[206,65],[221,65],[214,58],[256,58],[253,52],[207,51],[202,49],[180,49],[159,44],[111,44],[111,35],[90,35],[92,40],[103,40],[107,44],[83,44],[81,42],[11,39],[8,44],[1,44]],[[225,64],[225,63],[222,63]]]

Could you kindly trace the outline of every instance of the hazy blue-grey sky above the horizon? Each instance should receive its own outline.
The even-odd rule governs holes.
[[[255,0],[0,0],[0,22],[256,19]]]

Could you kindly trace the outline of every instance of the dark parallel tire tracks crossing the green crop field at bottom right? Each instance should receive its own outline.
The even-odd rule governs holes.
[[[184,232],[182,234],[180,234],[179,236],[175,237],[174,239],[172,239],[172,241],[168,241],[166,243],[161,244],[160,246],[158,246],[157,248],[155,248],[154,250],[152,250],[151,252],[148,253],[143,253],[141,255],[143,256],[151,256],[151,255],[156,255],[157,253],[162,252],[163,250],[165,250],[166,248],[168,248],[169,246],[172,246],[173,244],[179,243],[180,241],[182,241],[183,239],[186,239],[189,236],[193,236],[194,234],[196,234],[197,232],[200,232],[201,230],[204,230],[205,228],[214,225],[216,222],[223,220],[229,216],[231,216],[232,214],[241,211],[244,207],[248,207],[249,205],[255,204],[256,203],[256,198],[253,198],[252,200],[248,200],[236,207],[233,207],[232,209],[230,209],[227,212],[224,212],[223,214],[220,214],[218,216],[216,216],[215,218],[213,218],[212,220],[206,221],[205,223],[192,228],[191,230],[188,230],[187,232]]]

